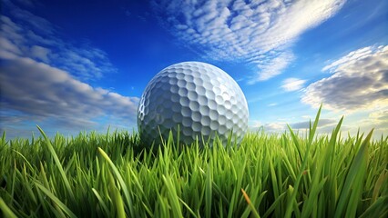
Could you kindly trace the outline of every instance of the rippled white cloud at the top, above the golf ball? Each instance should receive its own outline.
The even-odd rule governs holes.
[[[252,65],[257,72],[253,84],[281,74],[294,60],[291,45],[344,2],[155,0],[152,6],[162,24],[183,44],[196,45],[199,54]]]

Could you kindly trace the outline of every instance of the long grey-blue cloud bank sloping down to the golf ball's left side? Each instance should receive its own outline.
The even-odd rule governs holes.
[[[26,57],[3,60],[0,71],[2,114],[17,117],[18,122],[88,128],[97,125],[93,120],[107,117],[119,124],[135,123],[137,97],[93,88],[63,70]],[[12,124],[16,120],[2,121]]]

